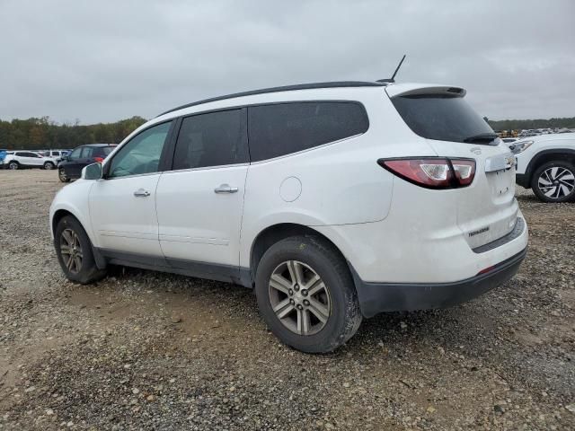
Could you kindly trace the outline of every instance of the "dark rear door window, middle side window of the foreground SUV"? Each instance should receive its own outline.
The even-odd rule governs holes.
[[[223,110],[183,119],[173,169],[202,168],[248,161],[242,110]]]

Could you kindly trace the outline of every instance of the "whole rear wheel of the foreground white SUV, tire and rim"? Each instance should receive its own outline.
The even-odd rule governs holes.
[[[272,245],[258,265],[255,292],[274,335],[304,352],[331,352],[356,333],[362,320],[345,259],[315,237]]]

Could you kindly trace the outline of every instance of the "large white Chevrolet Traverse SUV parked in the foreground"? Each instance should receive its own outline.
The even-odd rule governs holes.
[[[59,263],[79,283],[119,264],[253,287],[306,352],[481,295],[517,272],[527,228],[514,157],[464,93],[305,84],[164,112],[54,198]]]

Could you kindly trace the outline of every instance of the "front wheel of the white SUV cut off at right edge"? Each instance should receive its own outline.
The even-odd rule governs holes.
[[[555,178],[553,178],[553,168],[558,168]],[[565,177],[567,177],[567,179]],[[547,182],[551,182],[552,185],[545,188],[544,186]],[[560,190],[559,187],[562,189]],[[535,196],[543,202],[557,203],[574,201],[575,166],[573,163],[559,160],[542,164],[533,172],[531,189],[533,189]],[[545,192],[550,196],[545,195]]]

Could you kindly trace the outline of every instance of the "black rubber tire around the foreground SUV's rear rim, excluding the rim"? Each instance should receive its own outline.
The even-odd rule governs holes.
[[[321,330],[311,335],[300,335],[289,330],[273,311],[270,277],[287,261],[301,262],[313,268],[330,297],[329,318]],[[290,237],[272,245],[258,265],[255,293],[263,320],[274,335],[288,346],[303,352],[331,352],[356,333],[362,320],[358,294],[345,259],[332,244],[313,236]]]

